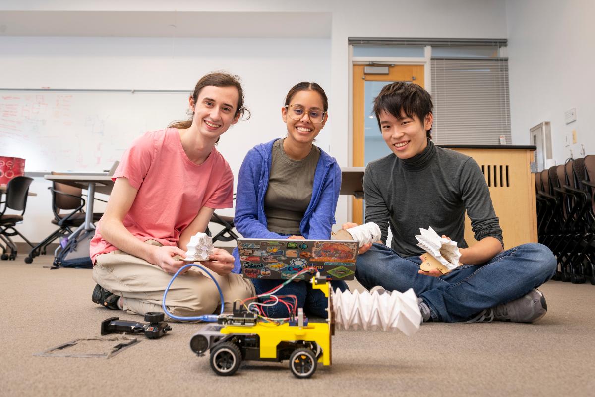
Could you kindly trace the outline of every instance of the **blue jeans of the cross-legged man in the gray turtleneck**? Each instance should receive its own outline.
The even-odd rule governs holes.
[[[374,243],[359,255],[355,277],[366,288],[415,295],[430,306],[434,321],[465,321],[478,312],[520,298],[556,273],[556,258],[542,244],[529,243],[501,252],[481,265],[461,265],[441,277],[419,274],[419,257],[402,258]]]

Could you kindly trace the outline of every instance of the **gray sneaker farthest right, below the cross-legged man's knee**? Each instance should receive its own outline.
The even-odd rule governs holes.
[[[490,323],[494,320],[533,323],[546,315],[546,312],[546,297],[540,290],[534,288],[521,298],[481,311],[467,323]]]

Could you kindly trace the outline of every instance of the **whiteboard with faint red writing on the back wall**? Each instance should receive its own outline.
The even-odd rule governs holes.
[[[108,170],[136,137],[187,120],[189,95],[0,91],[0,155],[27,172]]]

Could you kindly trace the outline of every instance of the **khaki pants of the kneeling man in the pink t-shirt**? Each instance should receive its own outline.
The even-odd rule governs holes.
[[[161,245],[155,240],[147,240],[147,243]],[[226,311],[231,311],[236,299],[255,295],[252,283],[240,274],[219,276],[212,271],[209,273],[221,287]],[[163,293],[171,277],[161,267],[119,249],[98,255],[93,267],[93,280],[109,292],[126,298],[123,300],[124,310],[140,315],[149,311],[163,311]],[[176,277],[167,292],[165,304],[171,314],[196,316],[215,313],[221,302],[211,277],[201,269],[192,267],[186,274]]]

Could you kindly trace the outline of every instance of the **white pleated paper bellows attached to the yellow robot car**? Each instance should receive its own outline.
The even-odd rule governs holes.
[[[352,327],[365,330],[382,329],[384,331],[400,330],[412,336],[419,330],[421,312],[417,296],[412,289],[405,293],[370,294],[355,290],[333,293],[333,314],[335,323],[345,329]]]

